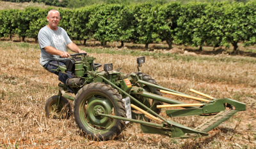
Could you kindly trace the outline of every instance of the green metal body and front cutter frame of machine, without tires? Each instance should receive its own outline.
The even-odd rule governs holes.
[[[227,118],[231,117],[234,115],[237,111],[243,111],[246,110],[246,105],[244,103],[234,101],[233,99],[214,99],[210,101],[209,103],[204,103],[204,106],[201,107],[196,107],[196,106],[189,106],[189,107],[184,107],[184,109],[179,109],[179,110],[166,110],[166,115],[169,117],[187,117],[187,116],[193,116],[193,115],[211,115],[211,114],[216,114],[220,113],[221,111],[225,111],[226,108],[234,108],[234,110],[228,111],[227,115],[225,117],[219,117],[218,120],[214,121],[213,124],[210,127],[204,127],[204,125],[201,127],[201,129],[191,129],[189,127],[186,127],[184,125],[181,125],[177,122],[173,122],[172,120],[166,120],[165,118],[161,117],[158,115],[155,111],[151,110],[148,106],[145,106],[143,103],[138,101],[136,98],[133,96],[142,96],[146,97],[148,99],[153,99],[156,101],[161,101],[163,103],[168,103],[168,104],[186,104],[181,101],[177,101],[174,99],[170,99],[167,97],[159,96],[156,94],[152,94],[150,92],[147,92],[144,90],[142,87],[143,85],[147,85],[149,87],[154,87],[156,89],[161,89],[161,90],[166,90],[169,92],[175,92],[177,94],[184,94],[182,92],[177,92],[175,90],[167,89],[164,87],[161,87],[159,85],[156,85],[154,83],[149,83],[145,82],[142,80],[141,76],[137,76],[135,73],[131,73],[131,75],[128,77],[129,81],[132,84],[132,87],[128,87],[127,84],[124,81],[124,78],[127,78],[122,74],[119,70],[117,71],[93,71],[93,60],[95,58],[93,57],[81,57],[81,61],[76,61],[75,63],[75,74],[77,77],[84,78],[86,83],[92,83],[92,82],[103,82],[106,84],[111,85],[113,88],[117,89],[118,92],[123,96],[123,97],[130,97],[130,99],[137,104],[139,104],[142,108],[148,111],[148,113],[151,113],[152,115],[160,118],[163,120],[161,124],[154,124],[151,122],[144,122],[142,120],[135,120],[131,118],[124,118],[124,117],[118,117],[115,115],[108,115],[104,113],[104,109],[96,111],[96,115],[100,115],[102,117],[109,117],[109,118],[115,118],[115,119],[120,119],[120,120],[125,120],[125,121],[130,121],[130,122],[136,122],[141,124],[141,130],[145,133],[151,133],[151,134],[163,134],[166,136],[170,136],[173,138],[198,138],[200,136],[207,136],[207,131],[211,130],[212,128],[216,127],[219,125],[221,122],[224,120],[227,120]],[[61,71],[62,73],[65,73],[66,67],[63,66],[58,66],[58,69],[56,71]],[[86,77],[85,77],[86,76]],[[140,79],[141,78],[141,79]],[[126,80],[127,81],[127,80]],[[140,84],[138,87],[138,84]],[[75,100],[74,97],[68,96],[65,92],[67,90],[66,85],[59,84],[59,93],[58,93],[58,101],[57,101],[57,108],[60,104],[60,97],[63,96],[67,99],[70,99],[72,101]],[[81,87],[77,87],[74,89],[74,93],[76,94],[77,91],[81,89]],[[184,94],[187,95],[187,94]],[[93,102],[93,101],[92,101]],[[95,101],[96,102],[96,101]],[[90,105],[90,104],[89,104]],[[223,116],[223,115],[221,115]],[[106,119],[106,118],[105,118]],[[190,136],[189,136],[189,135]]]

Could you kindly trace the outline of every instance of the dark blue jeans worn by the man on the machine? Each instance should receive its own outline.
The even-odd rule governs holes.
[[[60,80],[60,82],[62,82],[62,83],[64,83],[64,84],[66,85],[66,80],[67,80],[68,78],[74,78],[74,76],[71,75],[71,72],[70,72],[70,71],[67,71],[67,73],[61,73],[61,71],[60,71],[60,72],[57,72],[57,71],[52,70],[52,69],[58,69],[58,67],[51,66],[51,65],[49,64],[50,62],[52,62],[52,63],[54,63],[54,64],[58,64],[58,63],[57,63],[57,60],[51,60],[51,61],[47,62],[47,63],[44,65],[44,68],[47,69],[47,71],[49,71],[49,72],[51,72],[51,73],[54,73],[55,75],[58,75],[58,76],[59,76],[58,79]],[[59,65],[60,65],[60,66],[65,66],[65,64],[64,64],[63,62],[60,62],[60,61],[59,61]],[[70,87],[68,87],[68,90],[73,93],[73,90],[70,89]]]

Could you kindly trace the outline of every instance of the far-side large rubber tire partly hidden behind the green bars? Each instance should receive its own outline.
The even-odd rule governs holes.
[[[139,73],[138,72],[136,72],[135,73],[137,76],[139,76]],[[156,80],[154,80],[150,75],[147,75],[147,74],[145,74],[145,73],[140,73],[140,75],[142,76],[142,80],[143,81],[145,81],[145,82],[149,82],[149,83],[153,83],[153,84],[156,84],[156,85],[158,85],[157,83],[156,83]],[[129,76],[129,75],[127,75],[127,76]],[[140,76],[139,76],[139,78],[140,78]],[[143,86],[143,89],[145,89],[145,90],[147,90],[147,92],[151,92],[151,93],[153,93],[153,94],[157,94],[157,95],[159,95],[159,96],[162,96],[163,94],[160,92],[160,90],[159,89],[156,89],[156,88],[154,88],[154,87],[150,87],[150,86],[147,86],[147,85],[144,85]],[[139,100],[140,101],[140,100]],[[161,101],[154,101],[155,102],[155,104],[154,104],[154,107],[152,107],[152,110],[154,111],[154,112],[156,112],[157,114],[159,114],[160,112],[161,112],[161,108],[156,108],[156,106],[157,105],[163,105],[163,102],[161,102]],[[132,102],[132,104],[135,104],[136,106],[139,106],[137,103],[134,103],[134,102]],[[141,109],[143,109],[143,110],[145,110],[144,108],[142,108],[141,106],[139,106]],[[148,108],[150,108],[149,106],[148,106]],[[148,111],[148,110],[145,110],[145,111]],[[149,111],[148,111],[149,112]],[[150,112],[149,112],[150,113]],[[135,115],[134,114],[134,112],[132,112],[132,118],[138,118],[138,117],[141,117],[141,119],[145,119],[145,120],[147,120],[147,118],[145,118],[144,117],[144,114],[140,114],[140,116],[138,116],[137,114]]]

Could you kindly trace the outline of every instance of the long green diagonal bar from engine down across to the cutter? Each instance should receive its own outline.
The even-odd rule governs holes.
[[[161,117],[160,115],[158,115],[155,111],[151,110],[150,108],[148,108],[147,106],[145,106],[144,104],[140,103],[140,101],[138,101],[137,99],[135,99],[134,97],[132,97],[130,94],[128,94],[127,92],[125,92],[124,90],[120,89],[118,86],[116,86],[114,83],[109,82],[108,79],[104,78],[104,76],[100,76],[100,78],[102,78],[103,80],[105,80],[106,82],[108,82],[110,85],[112,85],[113,87],[115,87],[116,89],[120,90],[120,92],[124,93],[126,96],[129,96],[133,101],[135,101],[136,103],[140,104],[140,106],[142,106],[143,108],[147,109],[148,111],[150,111],[151,113],[153,113],[156,117],[161,118],[161,120],[163,120],[164,122],[166,122],[166,124],[170,124],[167,120],[165,120],[163,117]]]

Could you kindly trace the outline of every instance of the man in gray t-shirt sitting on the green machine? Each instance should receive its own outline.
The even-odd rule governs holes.
[[[38,32],[38,43],[41,49],[40,64],[51,73],[58,75],[59,80],[66,84],[66,80],[72,78],[72,75],[52,71],[52,69],[57,69],[57,67],[49,65],[49,63],[57,64],[58,60],[60,65],[65,66],[67,57],[70,57],[67,48],[76,53],[86,52],[81,50],[75,43],[72,43],[67,32],[63,28],[58,27],[60,22],[58,10],[50,10],[46,18],[48,24]]]

